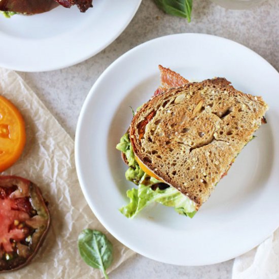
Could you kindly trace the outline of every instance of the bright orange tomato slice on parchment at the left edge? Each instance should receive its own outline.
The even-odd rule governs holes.
[[[0,171],[18,160],[25,141],[22,115],[12,102],[0,95]]]

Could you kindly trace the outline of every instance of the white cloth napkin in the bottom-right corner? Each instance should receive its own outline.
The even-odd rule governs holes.
[[[235,258],[232,279],[279,279],[279,228],[258,247]]]

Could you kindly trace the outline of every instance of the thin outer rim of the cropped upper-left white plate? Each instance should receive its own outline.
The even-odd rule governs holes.
[[[33,72],[50,72],[50,71],[57,71],[59,69],[63,69],[63,68],[67,68],[67,67],[71,67],[73,65],[79,64],[93,56],[95,56],[96,54],[98,54],[99,52],[101,52],[102,50],[106,49],[108,46],[110,46],[122,33],[123,31],[128,27],[128,25],[130,24],[131,20],[134,18],[138,8],[140,8],[142,3],[142,0],[137,0],[137,5],[135,5],[133,12],[130,14],[130,16],[127,18],[125,24],[122,25],[122,27],[114,34],[114,36],[111,37],[110,40],[108,40],[105,44],[102,44],[99,48],[95,49],[94,51],[87,53],[86,55],[81,56],[80,58],[77,59],[73,59],[71,60],[71,62],[67,62],[67,63],[57,63],[55,66],[47,66],[47,65],[36,65],[36,67],[29,67],[29,65],[15,65],[13,66],[7,63],[3,63],[0,61],[0,67],[3,68],[7,68],[10,69],[12,71],[19,71],[19,72],[26,72],[26,73],[33,73]],[[59,6],[58,6],[59,7]],[[57,7],[56,7],[57,8]],[[33,39],[32,39],[33,40]],[[32,41],[30,40],[30,41]]]

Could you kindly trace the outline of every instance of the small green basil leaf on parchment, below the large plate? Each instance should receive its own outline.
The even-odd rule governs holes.
[[[85,229],[79,235],[79,252],[82,259],[90,266],[98,268],[108,279],[106,269],[113,262],[113,246],[102,232]]]

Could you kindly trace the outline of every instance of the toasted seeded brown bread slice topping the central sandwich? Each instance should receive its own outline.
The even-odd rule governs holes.
[[[268,106],[224,78],[188,83],[146,102],[132,119],[134,154],[156,176],[196,202],[210,197]]]

